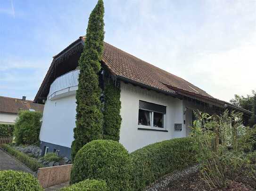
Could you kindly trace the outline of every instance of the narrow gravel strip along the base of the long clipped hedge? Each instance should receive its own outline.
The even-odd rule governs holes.
[[[180,179],[184,176],[188,176],[192,173],[197,172],[199,169],[198,165],[195,165],[193,167],[190,168],[186,168],[182,171],[174,171],[171,174],[165,175],[162,178],[160,178],[159,180],[157,180],[155,183],[149,185],[145,191],[161,191],[162,189],[165,189],[165,187],[170,184],[170,182]]]

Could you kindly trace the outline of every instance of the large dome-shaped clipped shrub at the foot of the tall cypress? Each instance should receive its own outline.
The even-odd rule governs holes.
[[[131,160],[123,145],[113,140],[94,140],[76,154],[70,181],[101,179],[110,191],[129,191],[130,170]]]

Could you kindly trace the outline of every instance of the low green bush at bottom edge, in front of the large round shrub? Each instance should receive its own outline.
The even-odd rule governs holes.
[[[104,180],[86,179],[66,188],[62,188],[59,191],[107,191],[107,184]]]

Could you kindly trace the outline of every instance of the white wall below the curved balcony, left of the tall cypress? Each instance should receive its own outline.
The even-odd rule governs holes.
[[[40,140],[56,145],[71,147],[76,115],[75,94],[44,105]]]

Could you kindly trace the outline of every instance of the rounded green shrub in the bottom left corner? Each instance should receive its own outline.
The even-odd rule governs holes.
[[[14,171],[0,171],[0,191],[43,191],[38,180],[31,174]]]

